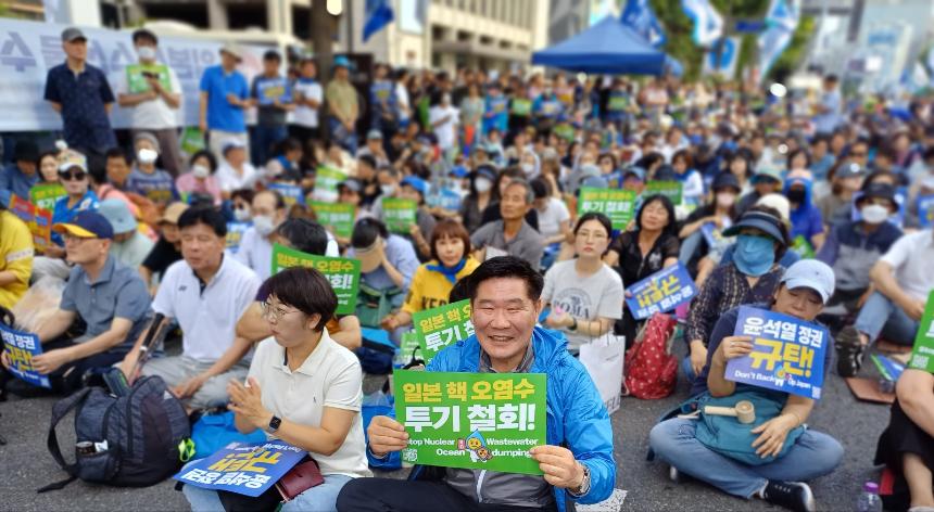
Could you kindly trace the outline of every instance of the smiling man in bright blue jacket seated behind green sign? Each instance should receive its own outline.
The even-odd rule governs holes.
[[[415,466],[408,481],[357,478],[338,497],[340,511],[568,510],[568,500],[603,501],[613,492],[613,430],[586,370],[559,334],[535,328],[544,285],[525,260],[491,258],[467,289],[476,335],[434,357],[427,371],[547,374],[547,445],[531,449],[544,475]],[[389,417],[367,428],[377,458],[408,446],[408,434]]]

